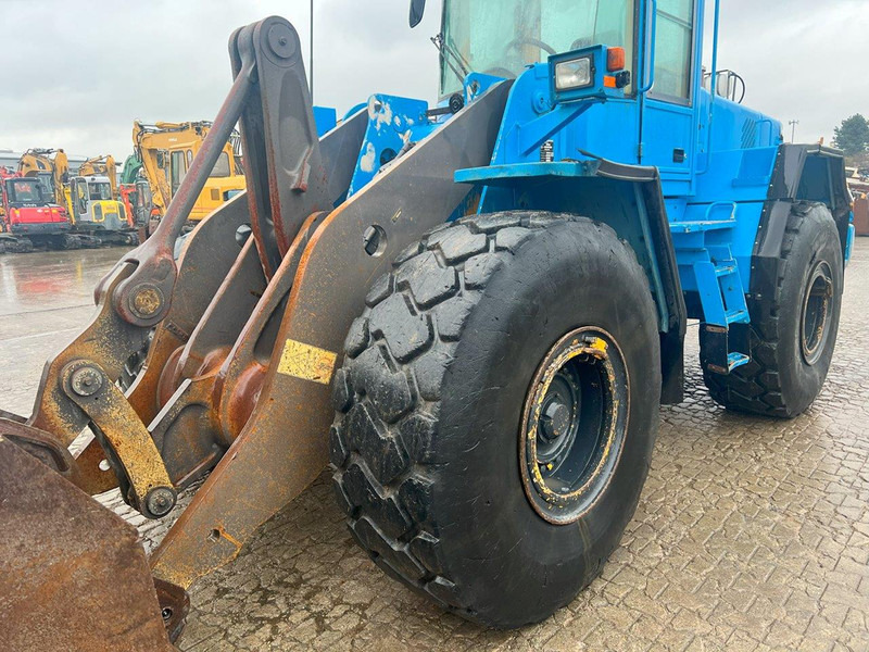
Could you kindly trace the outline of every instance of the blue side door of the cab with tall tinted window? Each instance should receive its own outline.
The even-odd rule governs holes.
[[[640,161],[660,171],[669,197],[692,188],[696,25],[696,0],[657,0],[654,84],[643,97]]]

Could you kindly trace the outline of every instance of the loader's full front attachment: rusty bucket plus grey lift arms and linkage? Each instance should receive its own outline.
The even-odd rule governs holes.
[[[172,650],[186,589],[325,467],[332,374],[371,283],[479,199],[453,172],[491,160],[508,83],[480,79],[449,112],[375,96],[318,137],[292,25],[242,27],[229,51],[232,88],[156,230],[102,279],[91,323],[47,362],[32,416],[0,412],[3,649]],[[247,190],[176,260],[236,124]],[[117,488],[159,519],[203,478],[148,560],[90,498]]]

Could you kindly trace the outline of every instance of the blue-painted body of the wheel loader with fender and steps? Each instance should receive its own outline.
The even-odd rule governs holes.
[[[633,77],[627,85],[620,79],[622,88],[607,71],[606,43],[553,54],[515,80],[467,74],[457,93],[462,103],[493,84],[512,88],[491,164],[455,173],[470,190],[451,218],[476,206],[479,213],[572,213],[610,225],[646,271],[664,354],[681,358],[685,321],[695,318],[707,337],[720,340],[714,366],[729,373],[750,361],[750,304],[764,300],[779,273],[792,203],[830,206],[846,260],[854,229],[840,152],[785,145],[780,122],[706,88],[709,77],[716,82],[708,86],[717,87],[719,76],[703,67],[705,3],[694,0],[687,98],[656,90],[650,43],[662,15],[657,0],[635,1]],[[713,9],[717,70],[718,0]],[[442,52],[442,61],[448,57]],[[556,65],[583,57],[591,60],[588,84],[559,90]],[[444,97],[432,111],[421,100],[377,95],[354,108],[348,117],[367,111],[368,126],[349,196],[448,122],[445,106],[454,99]],[[672,364],[681,378],[681,362]]]

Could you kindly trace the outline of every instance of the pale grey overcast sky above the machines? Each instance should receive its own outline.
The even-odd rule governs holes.
[[[433,99],[428,37],[440,1],[407,27],[408,0],[314,0],[315,100],[339,114],[371,92]],[[492,0],[498,5],[498,0]],[[227,41],[270,14],[308,42],[310,0],[0,0],[0,148],[131,151],[135,118],[211,120],[230,86]],[[828,142],[869,115],[869,0],[722,0],[720,67],[742,74],[746,104],[797,140]]]

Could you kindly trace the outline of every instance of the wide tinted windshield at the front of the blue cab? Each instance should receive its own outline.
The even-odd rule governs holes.
[[[516,77],[550,54],[589,46],[625,48],[633,68],[634,0],[444,0],[446,47],[473,72]],[[441,96],[462,80],[441,61]],[[455,67],[462,68],[462,65]],[[630,87],[627,89],[630,92]]]

